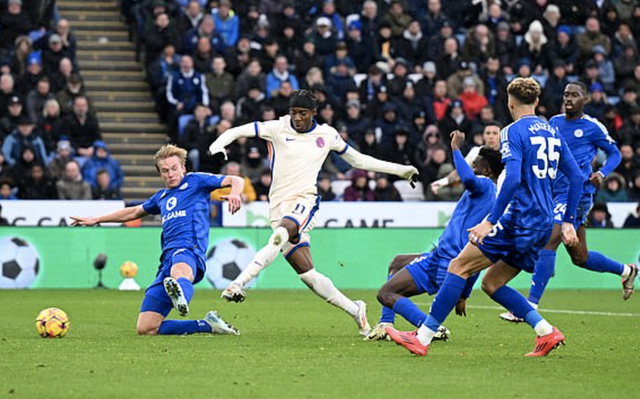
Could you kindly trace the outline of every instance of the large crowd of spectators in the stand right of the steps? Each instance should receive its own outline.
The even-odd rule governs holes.
[[[230,127],[286,114],[291,93],[304,88],[318,98],[318,121],[350,145],[414,164],[425,198],[455,200],[462,190],[429,190],[452,169],[449,132],[467,133],[466,150],[482,144],[486,123],[511,122],[508,82],[531,76],[543,87],[537,111],[547,118],[563,112],[568,82],[587,84],[587,112],[623,153],[598,201],[640,200],[637,0],[128,0],[122,7],[159,115],[189,150],[193,170],[221,171],[208,145]],[[268,183],[266,157],[259,140],[229,148],[256,188]],[[400,198],[388,192],[392,177],[362,176],[338,156],[323,172],[325,200]],[[352,184],[333,193],[345,180]]]

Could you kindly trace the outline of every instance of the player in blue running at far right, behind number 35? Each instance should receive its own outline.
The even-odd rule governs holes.
[[[584,113],[584,106],[589,101],[587,87],[582,82],[569,83],[564,89],[565,114],[554,116],[549,120],[549,124],[560,132],[566,140],[571,153],[573,154],[584,181],[584,186],[579,194],[580,203],[576,214],[574,226],[578,232],[580,244],[575,247],[566,247],[574,265],[599,273],[611,273],[622,276],[622,298],[626,301],[633,293],[633,283],[638,275],[638,268],[635,264],[624,265],[607,258],[599,252],[587,249],[587,234],[584,227],[587,214],[593,204],[593,195],[596,187],[599,187],[602,180],[615,170],[621,160],[620,151],[615,145],[615,141],[607,133],[605,128],[597,119]],[[607,161],[597,172],[591,169],[591,161],[596,156],[598,149],[607,154]],[[567,185],[568,179],[562,173],[558,174],[553,185],[555,218],[556,223],[553,228],[551,238],[547,246],[540,252],[540,258],[536,264],[531,279],[531,290],[529,291],[529,302],[537,307],[540,298],[553,275],[556,263],[556,251],[560,245],[560,223],[564,211],[567,207]],[[524,321],[515,317],[511,313],[503,313],[501,318],[512,321]]]

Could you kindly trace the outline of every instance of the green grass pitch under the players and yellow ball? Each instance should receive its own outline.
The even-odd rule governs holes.
[[[368,302],[373,325],[375,292],[347,293]],[[139,337],[142,293],[0,291],[0,398],[640,397],[638,316],[543,311],[567,346],[531,359],[528,326],[470,307],[466,319],[447,320],[449,342],[418,358],[393,342],[363,342],[351,318],[307,291],[253,291],[242,304],[217,294],[197,291],[190,316],[217,309],[240,337]],[[543,305],[640,313],[638,296],[623,302],[618,291],[550,290]],[[417,301],[428,309],[431,298]],[[476,291],[469,305],[494,303]],[[36,315],[51,306],[69,314],[63,339],[36,334]]]

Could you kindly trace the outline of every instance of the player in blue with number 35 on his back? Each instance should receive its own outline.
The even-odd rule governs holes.
[[[582,189],[580,169],[562,136],[535,115],[540,86],[531,78],[516,78],[507,87],[515,120],[500,133],[506,178],[487,220],[469,230],[469,243],[451,261],[431,304],[427,320],[414,332],[388,327],[387,334],[411,352],[425,356],[438,327],[456,306],[467,279],[491,267],[482,289],[516,316],[525,319],[538,337],[527,356],[545,356],[564,342],[564,335],[540,316],[526,298],[506,284],[521,270],[529,272],[553,229],[552,183],[558,168],[569,177],[562,238],[578,244],[573,220]],[[507,209],[508,205],[508,209]]]

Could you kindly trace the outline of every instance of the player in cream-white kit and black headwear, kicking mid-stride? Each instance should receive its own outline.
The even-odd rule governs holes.
[[[279,252],[300,279],[318,296],[354,318],[361,335],[368,335],[366,304],[352,301],[329,278],[314,268],[309,250],[309,231],[315,224],[320,204],[316,181],[330,151],[336,151],[358,169],[390,173],[412,181],[418,171],[413,166],[380,161],[347,145],[338,132],[315,120],[316,100],[306,90],[296,91],[289,102],[289,115],[275,121],[255,122],[227,130],[211,144],[212,154],[225,154],[225,147],[239,137],[267,141],[273,180],[269,190],[269,220],[273,234],[247,268],[222,292],[234,302],[244,300],[242,288],[273,262]]]

